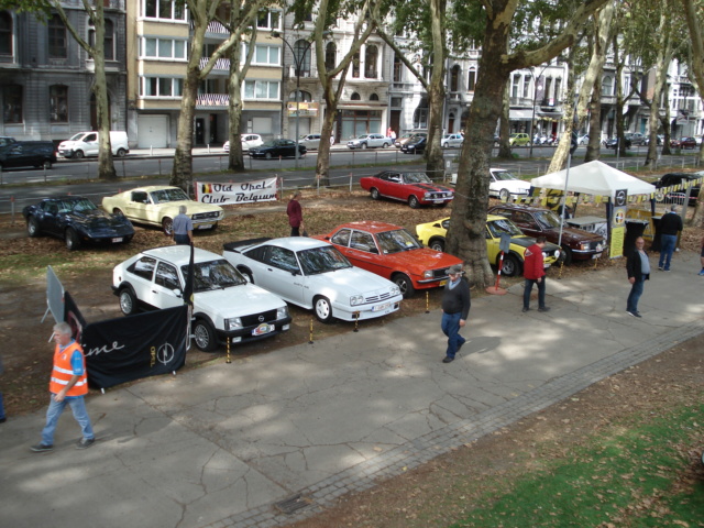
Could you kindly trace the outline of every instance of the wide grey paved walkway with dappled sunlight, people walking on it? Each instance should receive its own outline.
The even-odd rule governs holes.
[[[681,252],[656,271],[642,319],[625,312],[622,266],[550,276],[549,314],[521,314],[521,285],[477,298],[450,364],[433,310],[117,388],[88,402],[99,441],[86,451],[70,416],[46,454],[29,450],[43,413],[10,417],[3,525],[287,525],[702,333],[698,263]]]

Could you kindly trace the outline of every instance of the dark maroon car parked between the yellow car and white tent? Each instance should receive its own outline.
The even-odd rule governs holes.
[[[585,261],[602,256],[606,244],[600,234],[590,233],[583,229],[562,227],[562,240],[560,241],[561,219],[549,209],[517,204],[502,204],[492,207],[488,212],[508,218],[525,234],[529,237],[543,235],[548,242],[558,244],[561,242],[561,258],[564,264],[573,260]]]

